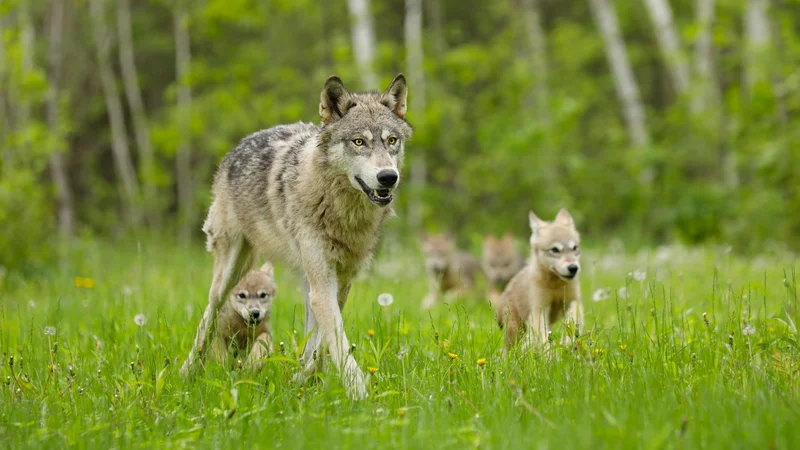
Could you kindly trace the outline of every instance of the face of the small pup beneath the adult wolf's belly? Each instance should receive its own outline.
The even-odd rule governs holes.
[[[273,273],[272,265],[264,264],[261,269],[248,272],[231,291],[229,301],[248,326],[256,327],[269,320],[277,289]]]

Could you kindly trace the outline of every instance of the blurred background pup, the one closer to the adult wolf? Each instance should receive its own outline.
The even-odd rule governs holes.
[[[428,293],[422,299],[422,308],[436,304],[440,294],[447,299],[463,294],[475,284],[480,264],[474,256],[456,248],[447,234],[422,237],[422,253],[428,272]]]

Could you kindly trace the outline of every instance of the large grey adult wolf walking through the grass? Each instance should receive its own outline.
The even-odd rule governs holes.
[[[333,76],[320,94],[322,125],[262,130],[225,156],[203,225],[214,274],[208,306],[181,368],[184,377],[198,366],[222,299],[255,251],[303,275],[305,330],[311,336],[298,378],[317,370],[312,355],[324,342],[348,395],[367,395],[364,374],[350,354],[342,308],[392,211],[388,206],[412,134],[406,97],[402,74],[382,93],[349,92]]]

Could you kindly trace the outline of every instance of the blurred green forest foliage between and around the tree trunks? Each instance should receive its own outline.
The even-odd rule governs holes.
[[[106,3],[106,20],[115,30],[115,3]],[[744,4],[717,2],[712,29],[715,78],[708,89],[716,92],[718,101],[699,113],[691,105],[704,88],[693,86],[683,96],[674,92],[644,6],[614,2],[646,105],[652,142],[646,148],[628,143],[603,42],[587,2],[539,3],[547,64],[543,108],[534,101],[540,78],[534,73],[519,2],[425,2],[427,106],[424,111],[415,107],[419,87],[410,86],[409,119],[416,135],[408,161],[424,161],[427,179],[424,187],[403,188],[407,190],[397,197],[401,217],[407,215],[408,194],[414,192],[421,193],[425,228],[450,229],[465,240],[484,232],[525,235],[529,209],[548,216],[566,206],[596,241],[624,236],[640,244],[727,242],[743,251],[776,241],[800,248],[800,183],[793,180],[800,173],[796,2],[772,5],[772,44],[753,61],[745,57]],[[670,3],[682,40],[679,57],[693,66],[699,32],[694,2]],[[155,198],[144,200],[146,209],[166,219],[162,227],[171,226],[176,222],[178,118],[189,115],[197,206],[191,220],[198,228],[214,168],[238,140],[279,123],[317,121],[318,92],[330,74],[340,75],[353,89],[362,86],[353,63],[345,1],[206,1],[193,3],[189,10],[191,70],[181,81],[191,86],[193,99],[191,110],[181,111],[176,107],[174,70],[176,4],[136,2],[133,8],[137,72],[157,163],[154,173],[138,176],[152,179],[158,188]],[[7,189],[5,201],[32,205],[42,219],[55,210],[42,164],[46,157],[34,156],[51,148],[44,143],[55,134],[56,141],[65,144],[80,227],[115,233],[124,229],[119,219],[121,194],[93,68],[91,27],[87,15],[74,9],[85,3],[67,5],[71,9],[65,33],[70,39],[65,41],[62,92],[67,123],[59,133],[43,125],[49,11],[43,4],[28,9],[35,39],[33,68],[25,69],[21,3],[4,2],[0,9],[0,86],[4,94],[11,94],[0,102],[3,154],[39,158],[14,163],[24,167],[15,171],[32,171],[14,177],[14,183],[29,180],[29,188]],[[377,37],[374,65],[385,83],[396,72],[408,70],[404,5],[400,0],[372,0],[371,8]],[[115,46],[114,59],[117,51]],[[743,82],[745,70],[757,74],[752,89]],[[26,103],[30,114],[24,125],[5,120],[14,119]],[[130,125],[130,117],[126,120]],[[133,130],[128,128],[138,159]],[[10,180],[0,183],[10,186]],[[34,188],[40,190],[38,195],[27,194]],[[30,230],[19,216],[7,217],[15,229]],[[46,222],[51,227],[53,219]],[[29,232],[34,234],[31,242],[40,239]],[[24,255],[14,253],[11,259]]]

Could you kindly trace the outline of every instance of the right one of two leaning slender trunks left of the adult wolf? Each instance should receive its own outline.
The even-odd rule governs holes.
[[[122,68],[122,84],[128,98],[136,148],[139,150],[139,176],[142,179],[144,195],[147,202],[157,198],[155,186],[155,160],[150,130],[147,125],[147,113],[139,89],[139,78],[136,74],[136,63],[133,49],[133,32],[131,30],[130,0],[117,0],[117,38],[119,39],[119,61]],[[153,205],[145,207],[147,218],[157,220]]]

